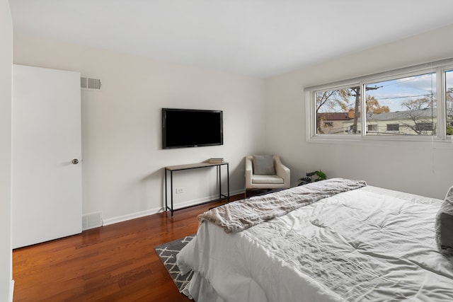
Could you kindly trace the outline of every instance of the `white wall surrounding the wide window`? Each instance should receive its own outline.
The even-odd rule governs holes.
[[[453,57],[452,35],[448,26],[266,80],[266,116],[280,117],[267,119],[268,151],[283,154],[293,185],[321,169],[330,178],[363,179],[443,199],[453,185],[452,144],[307,143],[304,87]]]

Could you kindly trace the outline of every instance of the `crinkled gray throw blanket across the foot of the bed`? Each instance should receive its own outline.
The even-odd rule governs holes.
[[[320,199],[366,185],[364,180],[343,178],[311,182],[308,185],[224,204],[198,215],[198,221],[210,221],[222,226],[226,233],[239,232]]]

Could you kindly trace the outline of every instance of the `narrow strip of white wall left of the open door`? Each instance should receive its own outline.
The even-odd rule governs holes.
[[[8,0],[0,0],[0,301],[10,301],[11,253],[11,64],[13,23]],[[12,299],[11,299],[12,300]]]

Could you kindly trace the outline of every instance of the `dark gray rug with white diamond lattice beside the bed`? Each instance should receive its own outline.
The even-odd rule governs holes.
[[[193,272],[190,271],[187,274],[181,274],[178,265],[176,265],[176,255],[178,252],[195,238],[195,235],[185,236],[169,243],[164,243],[163,245],[156,246],[157,255],[161,258],[164,263],[165,268],[171,276],[171,279],[176,284],[178,291],[182,291],[186,284],[190,281],[190,278],[193,275]]]

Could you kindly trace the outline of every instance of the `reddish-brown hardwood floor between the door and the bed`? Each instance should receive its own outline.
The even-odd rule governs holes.
[[[154,247],[196,233],[197,215],[222,203],[13,250],[13,301],[190,301],[178,292]]]

